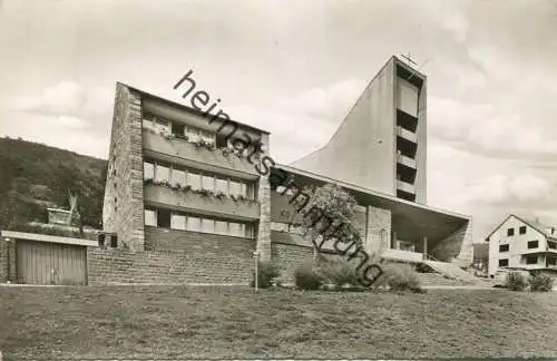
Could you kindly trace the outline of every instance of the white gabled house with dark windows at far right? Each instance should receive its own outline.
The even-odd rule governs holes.
[[[489,275],[498,269],[557,271],[557,227],[509,215],[486,237]]]

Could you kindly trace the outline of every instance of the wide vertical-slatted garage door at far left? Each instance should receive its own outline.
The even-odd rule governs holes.
[[[16,243],[18,283],[87,284],[87,248],[79,245]]]

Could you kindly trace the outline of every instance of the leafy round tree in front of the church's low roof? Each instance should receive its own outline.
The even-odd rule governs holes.
[[[356,201],[342,187],[326,184],[306,188],[309,202],[302,222],[304,237],[312,241],[315,256],[326,242],[361,244],[356,227]]]

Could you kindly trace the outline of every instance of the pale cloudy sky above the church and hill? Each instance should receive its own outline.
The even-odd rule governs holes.
[[[555,0],[0,0],[0,135],[107,158],[116,81],[184,101],[193,70],[287,164],[400,53],[428,77],[428,204],[475,242],[557,224]]]

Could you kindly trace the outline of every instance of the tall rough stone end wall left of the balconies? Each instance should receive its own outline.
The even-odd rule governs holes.
[[[119,247],[144,250],[141,104],[121,84],[116,86],[102,227],[118,234]]]

